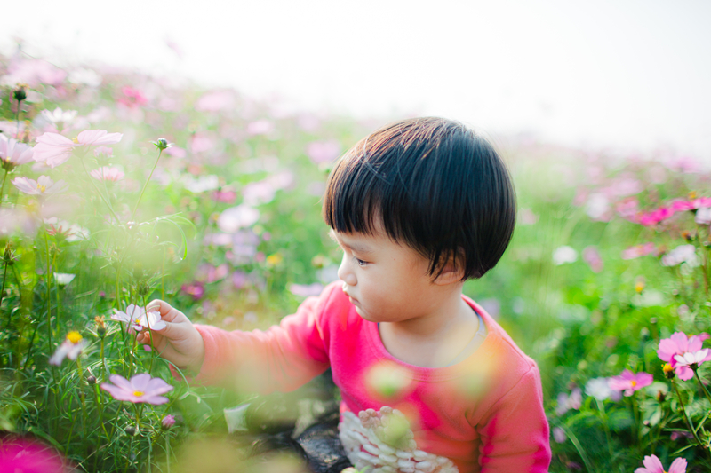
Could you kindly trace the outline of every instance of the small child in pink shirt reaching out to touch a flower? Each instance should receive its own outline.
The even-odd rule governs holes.
[[[193,325],[154,301],[167,322],[156,349],[197,382],[265,393],[331,367],[358,469],[547,471],[538,367],[462,295],[515,225],[515,191],[489,143],[441,118],[378,130],[336,164],[324,219],[343,250],[339,283],[266,332]]]

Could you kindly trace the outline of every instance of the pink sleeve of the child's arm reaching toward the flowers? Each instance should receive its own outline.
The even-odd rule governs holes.
[[[299,388],[329,367],[319,316],[332,288],[309,297],[296,313],[266,331],[228,332],[196,325],[205,356],[194,382],[267,394]]]

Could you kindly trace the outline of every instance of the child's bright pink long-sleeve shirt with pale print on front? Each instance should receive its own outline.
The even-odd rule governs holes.
[[[196,382],[294,390],[332,368],[340,439],[357,468],[403,473],[546,472],[548,424],[536,363],[495,320],[467,359],[415,367],[390,355],[338,284],[267,331],[196,326],[204,364]]]

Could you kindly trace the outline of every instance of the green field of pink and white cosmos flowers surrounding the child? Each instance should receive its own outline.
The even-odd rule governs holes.
[[[250,330],[319,294],[340,261],[325,177],[387,120],[21,54],[0,57],[0,92],[0,467],[236,458],[222,410],[249,392],[193,386],[137,343],[164,323],[148,302]],[[518,224],[465,292],[539,364],[551,471],[708,471],[707,163],[493,141]]]

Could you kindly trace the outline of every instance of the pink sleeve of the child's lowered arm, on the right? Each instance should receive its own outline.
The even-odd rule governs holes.
[[[477,427],[482,473],[547,473],[550,438],[538,367],[523,374],[490,413]]]

